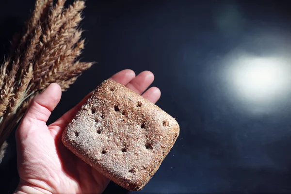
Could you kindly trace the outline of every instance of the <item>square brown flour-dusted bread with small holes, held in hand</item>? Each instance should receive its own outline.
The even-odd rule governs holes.
[[[156,173],[178,135],[173,117],[106,80],[66,127],[62,142],[105,177],[137,191]]]

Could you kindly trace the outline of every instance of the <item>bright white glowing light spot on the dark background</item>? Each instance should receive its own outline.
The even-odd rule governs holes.
[[[271,103],[280,100],[291,87],[290,65],[282,59],[245,55],[229,63],[229,81],[240,99]]]

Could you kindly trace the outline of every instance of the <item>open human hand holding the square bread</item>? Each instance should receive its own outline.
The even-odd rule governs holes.
[[[154,75],[149,71],[135,77],[132,70],[123,70],[111,79],[126,85],[153,103],[161,96],[156,87],[146,91],[154,80]],[[20,177],[16,193],[96,194],[102,193],[109,183],[109,179],[71,153],[61,142],[65,127],[90,94],[47,126],[46,122],[59,103],[61,93],[60,86],[53,83],[35,97],[16,130],[17,168]]]

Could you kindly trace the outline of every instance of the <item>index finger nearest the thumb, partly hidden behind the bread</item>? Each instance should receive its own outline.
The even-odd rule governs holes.
[[[114,74],[111,78],[111,80],[116,81],[120,84],[126,85],[135,78],[134,71],[130,69],[122,70],[116,74]],[[56,125],[59,127],[65,127],[78,113],[78,111],[81,109],[82,105],[86,103],[89,97],[91,97],[92,92],[88,94],[86,97],[84,97],[79,104],[77,104],[74,108],[66,112],[60,119],[58,119],[56,122],[54,122],[52,125]]]

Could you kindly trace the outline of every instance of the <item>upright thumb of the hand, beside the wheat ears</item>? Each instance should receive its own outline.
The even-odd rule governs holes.
[[[39,129],[40,126],[46,125],[61,96],[62,89],[59,84],[52,83],[44,92],[34,97],[17,129],[18,137],[22,139],[30,129]]]

